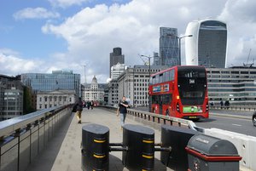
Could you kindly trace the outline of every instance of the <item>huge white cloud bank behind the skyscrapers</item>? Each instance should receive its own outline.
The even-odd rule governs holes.
[[[63,7],[67,3],[51,2],[59,2]],[[79,4],[85,1],[68,2]],[[137,54],[153,55],[159,51],[160,26],[175,27],[178,34],[183,35],[189,21],[208,17],[227,23],[228,66],[242,65],[247,61],[250,48],[251,59],[256,54],[253,49],[256,47],[255,6],[254,0],[133,0],[122,5],[98,4],[84,8],[60,25],[48,22],[42,26],[45,34],[55,34],[67,41],[67,51],[52,54],[49,61],[44,61],[43,69],[72,69],[81,74],[83,83],[83,65],[86,64],[87,82],[90,83],[96,75],[99,83],[105,83],[109,73],[109,53],[113,48],[122,48],[127,66],[143,64]]]

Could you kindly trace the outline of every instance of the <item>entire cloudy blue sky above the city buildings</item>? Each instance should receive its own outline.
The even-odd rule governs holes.
[[[159,52],[160,26],[182,37],[190,21],[207,18],[227,24],[227,66],[242,66],[256,57],[255,8],[255,0],[3,1],[0,74],[72,70],[81,83],[107,83],[113,48],[122,48],[126,66],[143,65],[139,54]]]

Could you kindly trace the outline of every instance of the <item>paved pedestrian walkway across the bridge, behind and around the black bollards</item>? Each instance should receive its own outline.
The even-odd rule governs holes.
[[[79,171],[81,169],[81,140],[82,127],[86,124],[97,123],[109,128],[109,142],[121,143],[123,132],[120,128],[119,117],[116,117],[113,111],[94,108],[87,110],[84,108],[82,112],[82,123],[77,122],[74,113],[50,140],[45,150],[39,154],[34,162],[29,166],[27,171]],[[125,123],[139,124],[134,120],[126,118]],[[146,126],[147,127],[147,126]],[[154,130],[155,143],[160,142],[160,131]],[[170,171],[160,162],[160,152],[154,153],[154,170]],[[122,165],[122,152],[111,151],[109,153],[109,170],[110,171],[126,171]]]

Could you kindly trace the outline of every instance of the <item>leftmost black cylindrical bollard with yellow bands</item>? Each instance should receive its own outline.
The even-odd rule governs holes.
[[[82,169],[108,171],[109,128],[88,124],[82,128]]]

